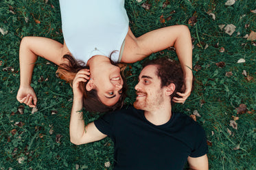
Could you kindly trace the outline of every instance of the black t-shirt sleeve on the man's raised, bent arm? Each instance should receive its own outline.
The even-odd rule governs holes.
[[[100,132],[108,136],[113,135],[115,113],[106,113],[99,119],[95,120],[94,124]]]

